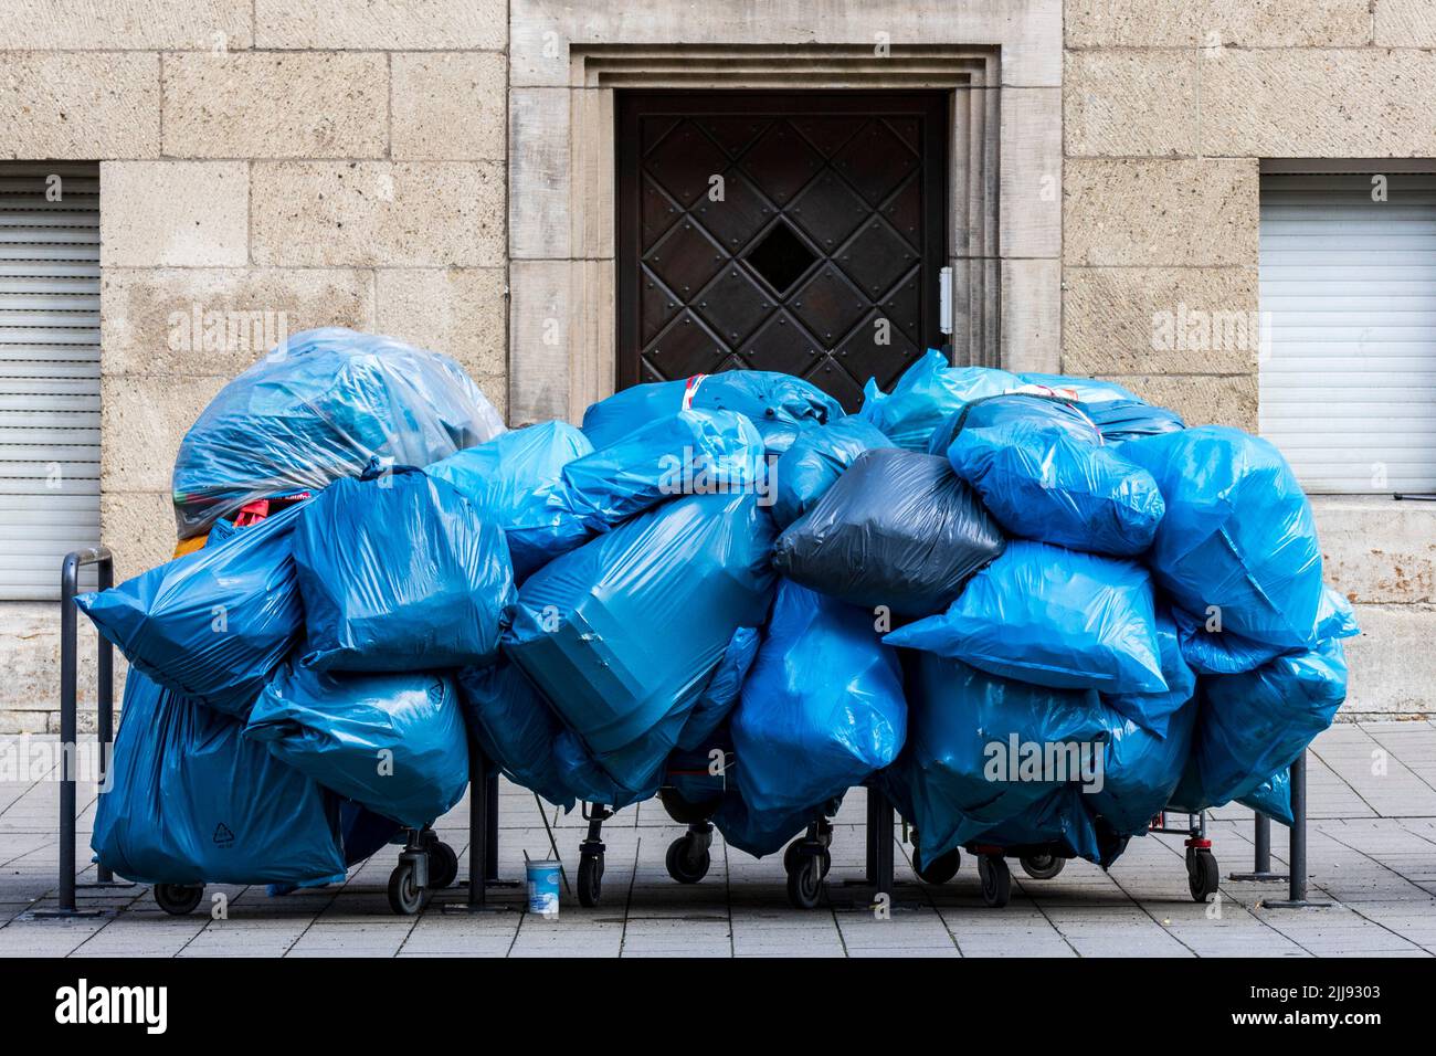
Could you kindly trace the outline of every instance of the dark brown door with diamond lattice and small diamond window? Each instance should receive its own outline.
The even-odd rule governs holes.
[[[938,333],[941,92],[619,93],[619,388],[728,369],[849,409]]]

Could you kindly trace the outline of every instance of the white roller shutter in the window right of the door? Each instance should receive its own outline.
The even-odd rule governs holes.
[[[1436,491],[1436,175],[1264,175],[1261,432],[1311,491]]]

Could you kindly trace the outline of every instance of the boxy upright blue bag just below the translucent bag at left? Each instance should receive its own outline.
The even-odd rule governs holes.
[[[317,671],[487,664],[513,609],[497,524],[418,470],[336,480],[294,530],[303,662]]]

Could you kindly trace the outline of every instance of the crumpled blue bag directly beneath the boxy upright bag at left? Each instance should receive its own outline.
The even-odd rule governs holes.
[[[244,736],[326,789],[418,829],[468,784],[449,675],[289,667],[254,701]]]

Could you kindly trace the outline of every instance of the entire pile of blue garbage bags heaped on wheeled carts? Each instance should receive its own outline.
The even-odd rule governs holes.
[[[332,882],[471,751],[755,855],[867,784],[926,861],[1110,865],[1166,807],[1290,820],[1357,632],[1271,444],[938,352],[854,415],[732,371],[504,430],[445,356],[312,330],[174,480],[202,547],[79,599],[129,661],[93,849],[141,882]]]

